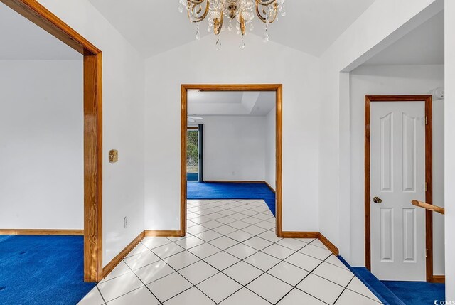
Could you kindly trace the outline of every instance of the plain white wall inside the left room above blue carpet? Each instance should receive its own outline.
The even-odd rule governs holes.
[[[0,228],[83,229],[80,60],[0,60]]]

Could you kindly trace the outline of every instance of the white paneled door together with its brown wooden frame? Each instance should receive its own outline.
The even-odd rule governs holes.
[[[383,111],[385,115],[381,116],[382,112],[373,115],[373,102],[382,102],[384,105],[423,102],[424,105],[422,115],[415,114],[412,117],[408,115],[412,109],[400,108],[395,113],[394,109],[387,107]],[[417,266],[423,264],[427,282],[434,282],[432,212],[427,210],[423,216],[423,213],[420,213],[422,211],[414,208],[411,203],[412,196],[424,196],[420,200],[432,204],[432,124],[432,95],[365,97],[365,267],[372,272],[375,272],[381,263],[402,262],[413,269],[418,269]],[[418,139],[419,125],[422,126],[423,141]],[[401,166],[394,164],[394,159],[397,159]],[[398,168],[394,173],[395,167]],[[387,168],[390,168],[390,171]],[[419,171],[419,168],[422,170]],[[397,183],[402,185],[397,187]],[[398,194],[394,196],[395,192]],[[385,196],[391,205],[382,204],[381,196]],[[402,202],[403,200],[406,202]],[[375,213],[373,219],[372,213]],[[422,219],[419,220],[421,214]],[[379,244],[374,246],[372,240]],[[420,242],[422,247],[418,246]],[[397,249],[398,245],[402,245],[401,255],[395,255],[394,249]],[[372,257],[375,257],[373,262]],[[400,266],[395,266],[398,267]],[[416,274],[415,277],[419,275]]]

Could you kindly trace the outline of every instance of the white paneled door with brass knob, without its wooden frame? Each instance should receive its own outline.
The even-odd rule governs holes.
[[[381,280],[425,281],[424,102],[370,107],[371,271]]]

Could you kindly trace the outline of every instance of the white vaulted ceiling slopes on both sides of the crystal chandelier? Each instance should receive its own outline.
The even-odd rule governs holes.
[[[374,1],[287,0],[287,16],[270,26],[270,39],[311,55],[321,55]],[[189,23],[186,14],[177,11],[178,0],[90,2],[144,57],[196,39],[196,26]],[[202,35],[208,35],[206,29],[207,21],[203,21]],[[262,36],[263,31],[264,23],[255,18],[253,33]]]

